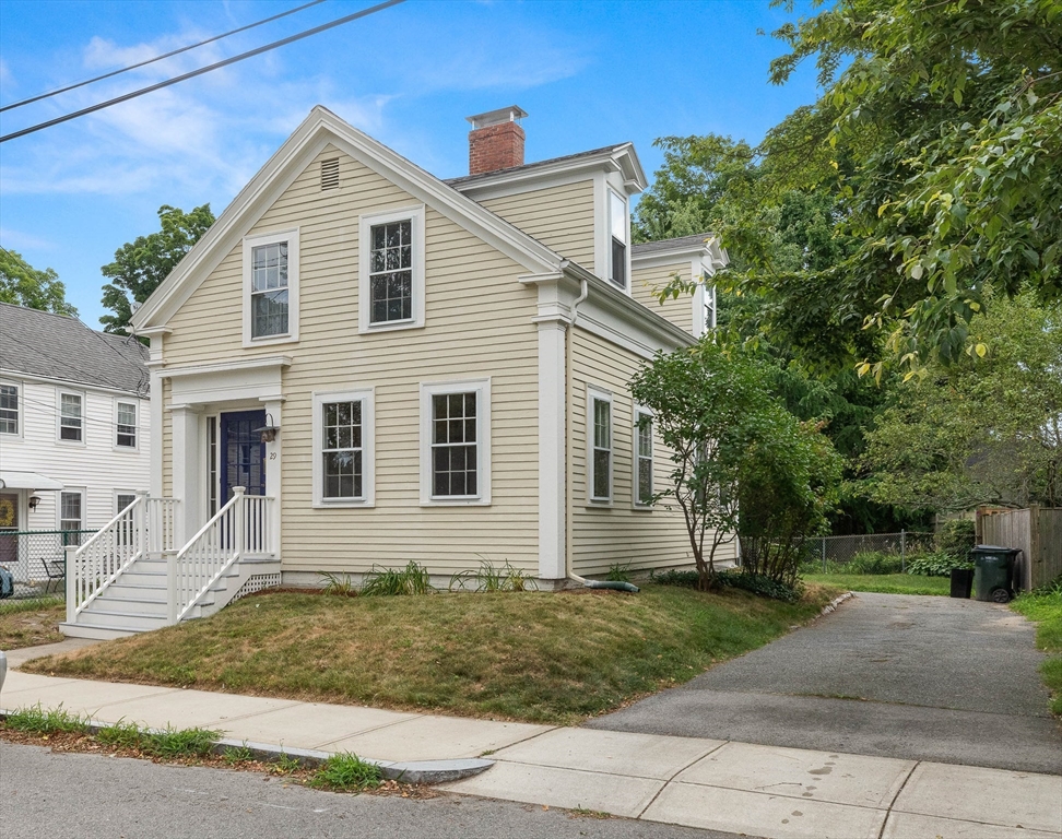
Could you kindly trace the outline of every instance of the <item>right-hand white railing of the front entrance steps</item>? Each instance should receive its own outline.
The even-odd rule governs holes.
[[[268,496],[245,495],[233,487],[233,497],[208,521],[167,565],[167,601],[170,623],[177,623],[200,598],[241,557],[268,555],[272,532],[272,501]]]

